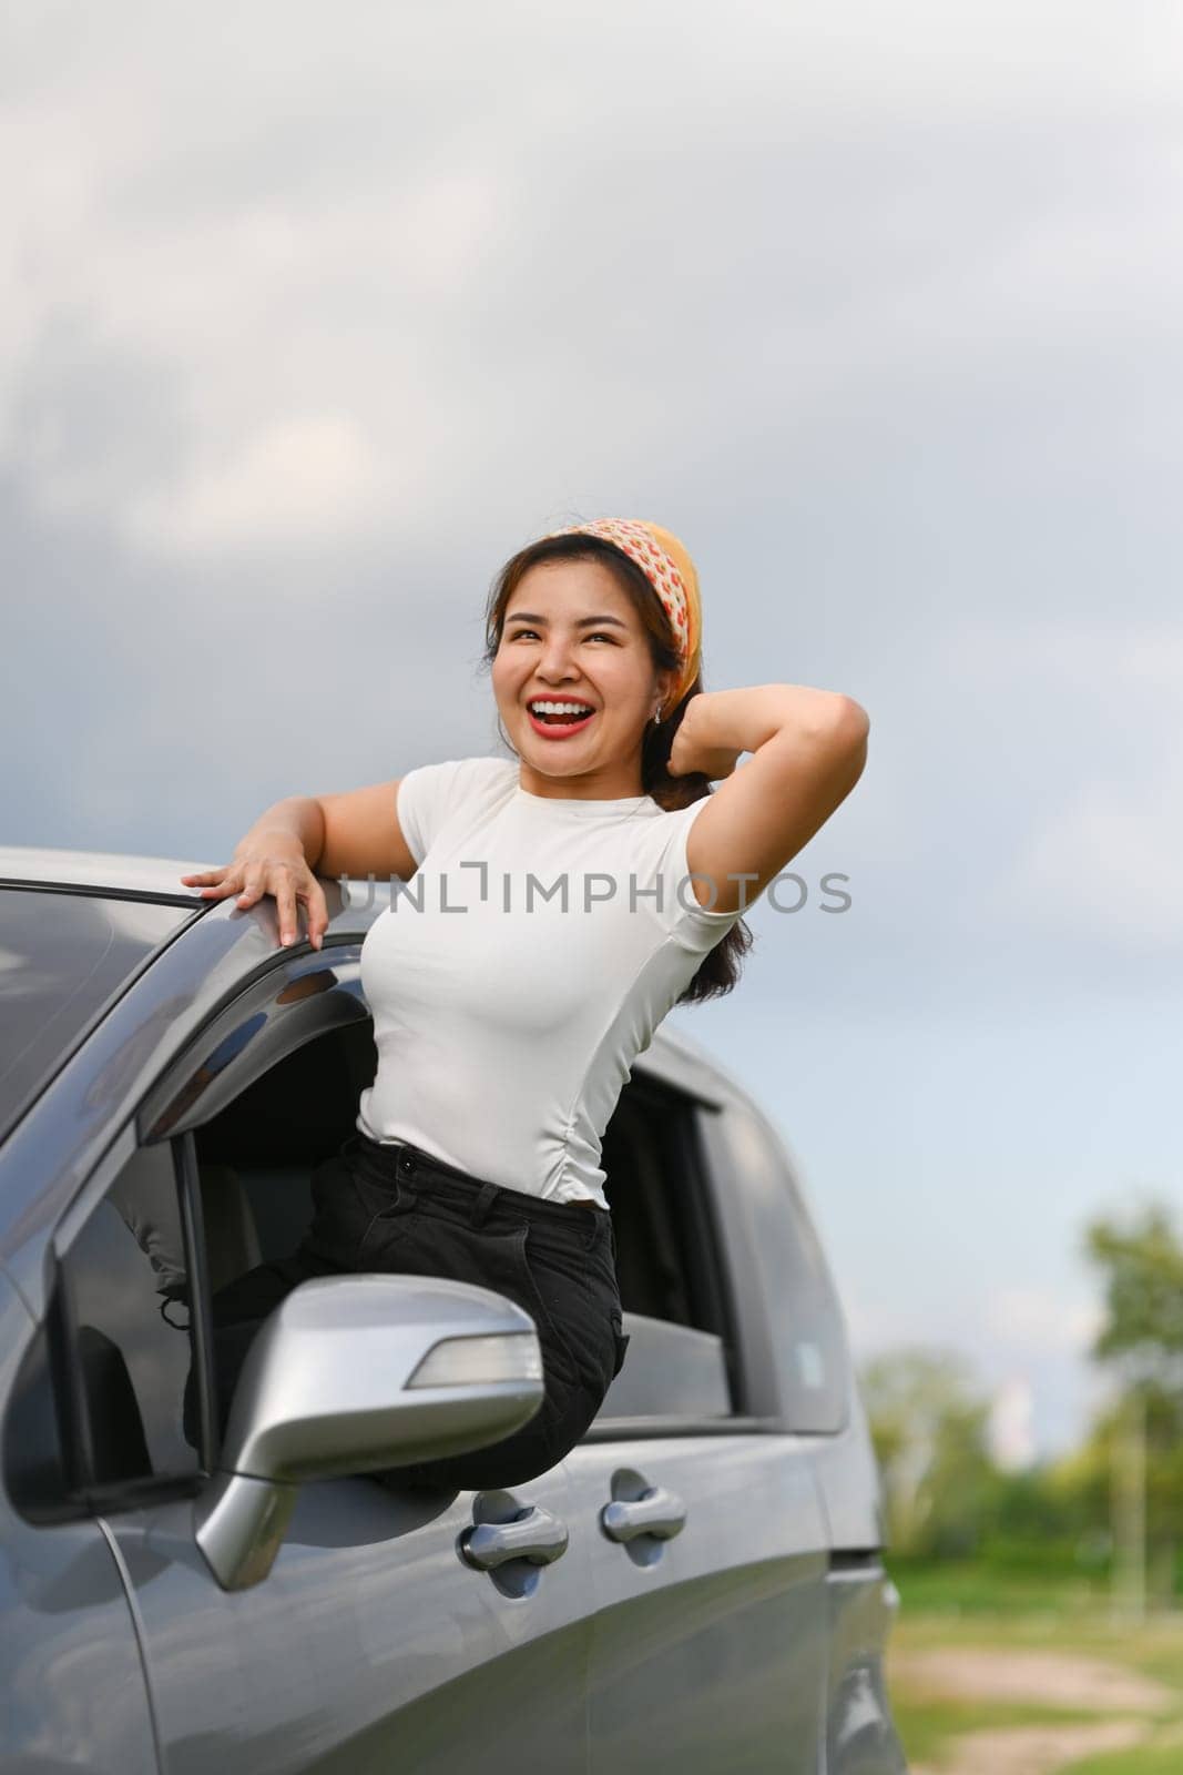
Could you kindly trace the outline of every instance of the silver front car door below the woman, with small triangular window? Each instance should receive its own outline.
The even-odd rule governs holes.
[[[585,1553],[571,1537],[546,1566],[474,1569],[459,1551],[474,1521],[569,1525],[562,1466],[479,1496],[303,1486],[268,1576],[220,1589],[193,1532],[213,1463],[183,1424],[204,1337],[190,1140],[128,1129],[60,1234],[67,1329],[89,1349],[80,1420],[106,1463],[99,1525],[168,1775],[585,1770]]]

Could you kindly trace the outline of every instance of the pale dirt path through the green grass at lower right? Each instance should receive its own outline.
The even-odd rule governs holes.
[[[1162,1683],[1075,1653],[931,1647],[896,1651],[889,1686],[899,1679],[917,1695],[958,1700],[1018,1700],[1050,1708],[1153,1715],[1176,1704]],[[999,1725],[963,1732],[938,1764],[913,1763],[910,1775],[1057,1775],[1101,1750],[1142,1741],[1151,1718],[1093,1724]]]

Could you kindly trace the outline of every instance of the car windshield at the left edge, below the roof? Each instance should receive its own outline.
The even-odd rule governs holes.
[[[0,1140],[192,916],[153,900],[0,888]]]

